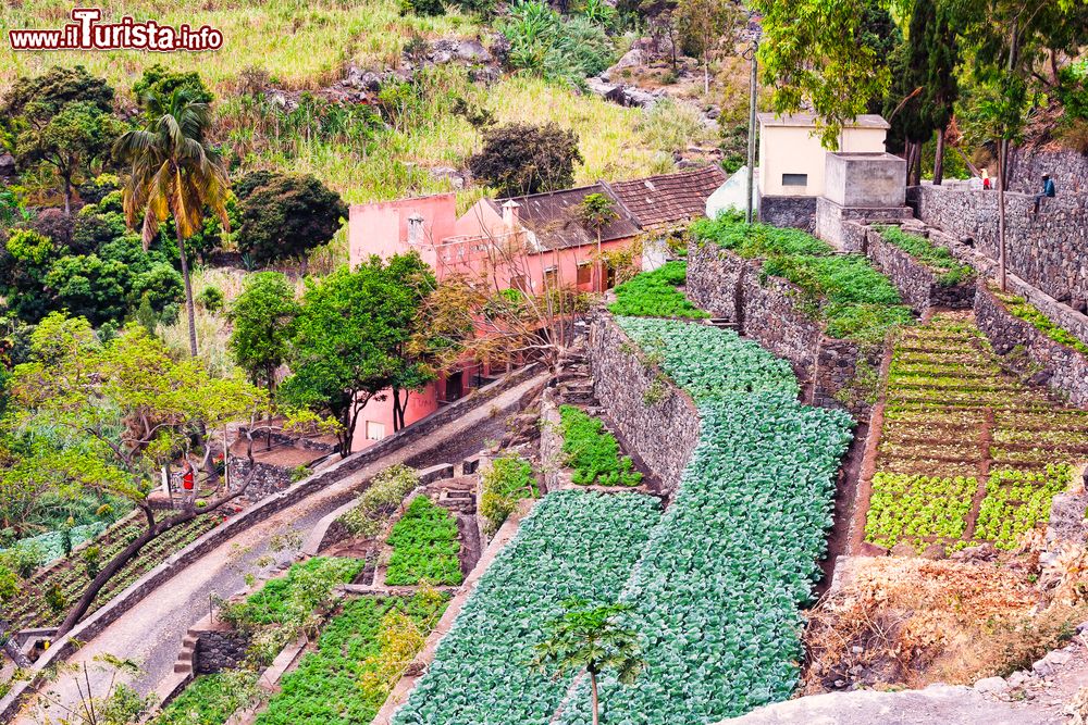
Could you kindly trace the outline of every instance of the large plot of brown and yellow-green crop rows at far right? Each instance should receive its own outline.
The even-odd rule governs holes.
[[[1088,457],[1088,411],[1003,373],[965,320],[938,314],[895,346],[865,525],[878,546],[1013,549]]]

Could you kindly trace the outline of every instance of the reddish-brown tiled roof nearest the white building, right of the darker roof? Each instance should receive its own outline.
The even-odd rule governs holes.
[[[643,229],[689,222],[706,213],[706,199],[728,176],[717,164],[679,174],[662,174],[605,184]]]

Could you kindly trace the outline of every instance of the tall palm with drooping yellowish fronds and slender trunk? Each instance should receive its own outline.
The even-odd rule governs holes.
[[[132,162],[124,189],[125,217],[135,229],[143,215],[144,249],[154,239],[159,224],[174,217],[189,317],[189,352],[196,357],[197,327],[185,240],[201,229],[205,207],[230,230],[226,217],[230,180],[219,153],[205,139],[211,125],[207,103],[196,101],[191,91],[184,88],[169,96],[148,93],[144,103],[151,118],[147,128],[131,130],[113,145],[113,152],[120,159]]]

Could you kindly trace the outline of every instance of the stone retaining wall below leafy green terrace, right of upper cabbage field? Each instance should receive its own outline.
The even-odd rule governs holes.
[[[713,242],[688,248],[688,297],[697,307],[738,325],[738,330],[790,361],[814,405],[846,407],[866,416],[868,393],[857,388],[862,361],[879,366],[879,352],[827,337],[811,314],[812,301],[778,277],[761,279],[761,262]],[[843,400],[846,400],[844,405]]]

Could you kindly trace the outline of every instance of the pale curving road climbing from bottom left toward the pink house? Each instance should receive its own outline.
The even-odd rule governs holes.
[[[182,637],[194,622],[207,613],[212,595],[227,597],[239,591],[245,587],[247,574],[268,574],[294,557],[294,551],[270,552],[268,542],[271,537],[289,529],[299,532],[305,537],[323,516],[343,503],[345,492],[390,465],[408,460],[417,465],[431,465],[447,462],[446,458],[440,457],[448,455],[452,451],[479,450],[484,437],[493,437],[496,421],[504,417],[496,416],[494,411],[516,405],[542,379],[533,378],[507,390],[463,417],[436,429],[428,438],[390,453],[213,549],[86,643],[70,659],[70,663],[81,666],[86,663],[91,668],[91,687],[98,695],[107,686],[110,674],[95,668],[95,658],[104,653],[128,658],[139,662],[143,668],[143,675],[131,680],[131,684],[141,695],[154,691],[159,682],[173,670]],[[435,459],[428,460],[431,458],[429,451],[432,450],[435,451]],[[274,563],[258,567],[257,560],[265,554],[273,558]],[[46,693],[65,705],[79,701],[76,679],[69,674],[60,676],[46,688]],[[42,701],[44,698],[39,696],[37,700]],[[64,715],[57,705],[45,713],[37,705],[38,703],[32,702],[24,708],[23,714],[15,722],[20,725],[46,725]]]

